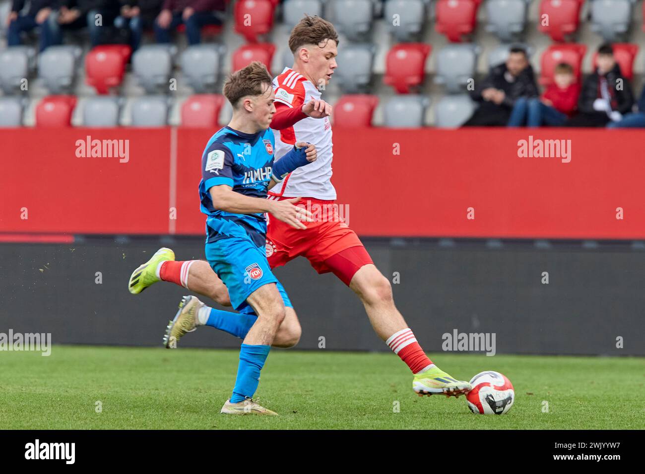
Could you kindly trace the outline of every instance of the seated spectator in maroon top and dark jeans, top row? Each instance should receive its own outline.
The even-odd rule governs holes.
[[[155,21],[155,39],[157,43],[170,43],[170,32],[183,23],[188,44],[199,44],[202,26],[221,25],[225,9],[224,0],[164,0]]]

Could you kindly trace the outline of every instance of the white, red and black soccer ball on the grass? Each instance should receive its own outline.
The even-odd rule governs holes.
[[[470,379],[473,390],[466,395],[468,408],[479,415],[504,415],[513,406],[513,384],[499,372],[487,370]]]

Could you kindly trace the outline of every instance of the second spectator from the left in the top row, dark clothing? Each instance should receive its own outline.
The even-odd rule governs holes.
[[[96,46],[101,43],[101,27],[113,25],[119,15],[118,0],[61,0],[60,5],[46,25],[51,44],[62,44],[63,32],[88,28],[90,43]]]

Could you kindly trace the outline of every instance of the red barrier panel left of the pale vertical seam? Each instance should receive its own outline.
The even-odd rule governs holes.
[[[169,130],[20,128],[0,143],[0,232],[168,232]]]

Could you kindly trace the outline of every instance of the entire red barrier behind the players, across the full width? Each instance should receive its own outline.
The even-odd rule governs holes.
[[[0,232],[203,235],[212,133],[0,130]],[[644,136],[337,129],[332,181],[363,236],[644,239]]]

